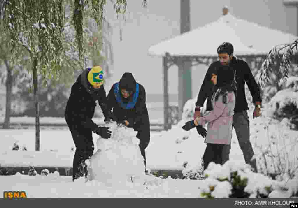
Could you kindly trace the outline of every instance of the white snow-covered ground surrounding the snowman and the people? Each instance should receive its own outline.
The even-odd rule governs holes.
[[[266,112],[263,112],[262,117],[252,119],[252,111],[249,111],[249,117],[250,138],[257,156],[258,168],[264,168],[263,155],[267,158],[269,171],[273,172],[274,167],[277,168],[276,164],[279,163],[278,161],[271,163],[272,157],[266,153],[268,148],[271,148],[271,152],[282,154],[279,158],[284,159],[284,161],[281,162],[288,164],[280,168],[297,167],[297,131],[291,130],[287,125],[276,120],[268,119]],[[179,122],[169,131],[151,132],[150,144],[146,149],[147,168],[181,171],[200,168],[200,159],[206,147],[204,138],[198,136],[195,129],[189,132],[183,131],[181,127],[184,122],[185,120]],[[34,151],[34,128],[1,129],[0,135],[2,138],[0,146],[1,166],[72,166],[74,151],[71,148],[74,147],[74,143],[67,129],[41,129],[40,152]],[[94,134],[93,138],[94,152],[96,152],[98,136]],[[11,150],[15,142],[20,146],[18,151]],[[26,146],[27,151],[21,150],[24,146]],[[244,165],[235,131],[233,131],[230,161]],[[270,168],[271,164],[272,167]],[[186,165],[186,168],[183,165]],[[121,170],[119,171],[121,172]],[[254,180],[258,183],[263,178],[260,177],[260,181],[256,178]],[[139,183],[131,183],[127,180],[119,181],[114,185],[107,185],[97,180],[84,183],[83,179],[73,183],[71,176],[59,176],[52,173],[48,176],[22,174],[0,176],[0,184],[0,192],[25,190],[29,198],[197,198],[201,197],[200,187],[206,186],[206,180],[160,179],[146,176],[145,184],[144,180]],[[40,187],[43,191],[39,191]]]

